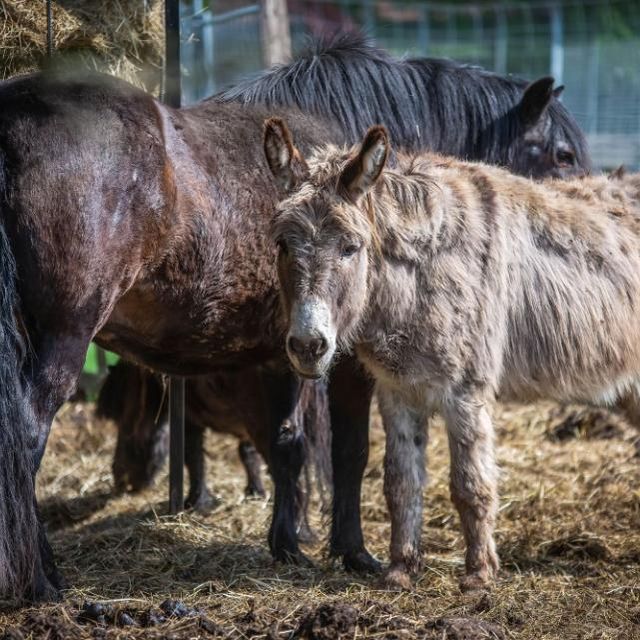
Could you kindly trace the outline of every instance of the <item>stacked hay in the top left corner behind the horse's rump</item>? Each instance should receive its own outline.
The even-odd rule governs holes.
[[[164,50],[162,0],[54,0],[54,49],[156,92]],[[41,67],[47,50],[44,0],[0,0],[0,77]]]

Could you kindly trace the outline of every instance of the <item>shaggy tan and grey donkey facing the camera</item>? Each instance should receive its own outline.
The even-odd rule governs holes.
[[[640,176],[534,183],[436,155],[385,169],[382,127],[305,161],[274,118],[264,144],[286,198],[273,233],[290,360],[319,377],[354,349],[377,382],[388,581],[410,586],[419,564],[423,425],[437,410],[467,545],[461,586],[485,585],[498,569],[496,396],[625,394],[637,410]]]

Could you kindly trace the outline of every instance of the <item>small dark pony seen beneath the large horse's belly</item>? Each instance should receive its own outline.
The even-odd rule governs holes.
[[[270,372],[248,367],[189,378],[186,381],[185,463],[190,489],[185,506],[206,510],[213,500],[205,481],[203,438],[205,429],[233,435],[247,475],[247,496],[265,496],[260,467],[270,473],[271,451],[266,381]],[[124,360],[109,368],[96,403],[96,415],[115,422],[118,440],[113,460],[117,492],[148,487],[168,454],[167,394],[162,377]],[[305,460],[315,467],[320,486],[331,482],[329,416],[326,388],[303,382],[294,412],[287,418],[287,433],[302,431]],[[308,476],[308,474],[307,474]],[[298,532],[305,527],[304,513],[310,485],[299,489]]]

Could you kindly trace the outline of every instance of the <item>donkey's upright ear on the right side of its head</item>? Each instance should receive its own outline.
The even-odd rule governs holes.
[[[351,158],[340,174],[340,192],[357,202],[380,177],[389,155],[389,134],[378,125],[367,131],[358,154]]]

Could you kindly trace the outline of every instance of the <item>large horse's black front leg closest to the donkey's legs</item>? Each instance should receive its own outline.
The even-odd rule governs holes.
[[[373,382],[361,365],[343,357],[331,372],[331,457],[333,519],[331,554],[349,571],[378,572],[380,563],[366,550],[360,522],[360,491],[369,456],[369,409]]]

